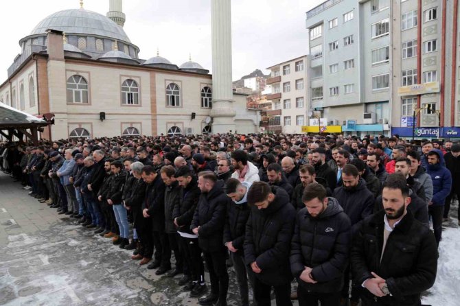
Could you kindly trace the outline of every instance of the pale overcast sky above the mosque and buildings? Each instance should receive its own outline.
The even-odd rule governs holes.
[[[305,13],[321,0],[231,0],[233,80],[273,64],[307,54]],[[211,0],[125,0],[124,30],[141,52],[157,54],[181,65],[192,60],[211,67]],[[2,1],[0,10],[0,83],[21,52],[19,40],[35,25],[59,10],[80,8],[79,0]],[[85,0],[84,8],[100,14],[108,0]]]

